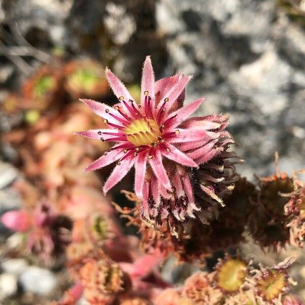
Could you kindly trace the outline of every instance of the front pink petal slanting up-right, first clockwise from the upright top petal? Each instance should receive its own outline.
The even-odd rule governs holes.
[[[180,94],[182,93],[182,91],[184,90],[185,86],[187,85],[187,83],[190,81],[191,78],[192,76],[181,75],[177,83],[173,87],[171,87],[168,92],[164,93],[162,97],[160,97],[160,102],[157,107],[157,112],[160,110],[164,100],[167,98],[168,101],[164,106],[165,108],[164,117],[166,117],[166,114],[170,111],[172,105],[176,102],[176,100],[178,99],[178,97],[180,96]]]

